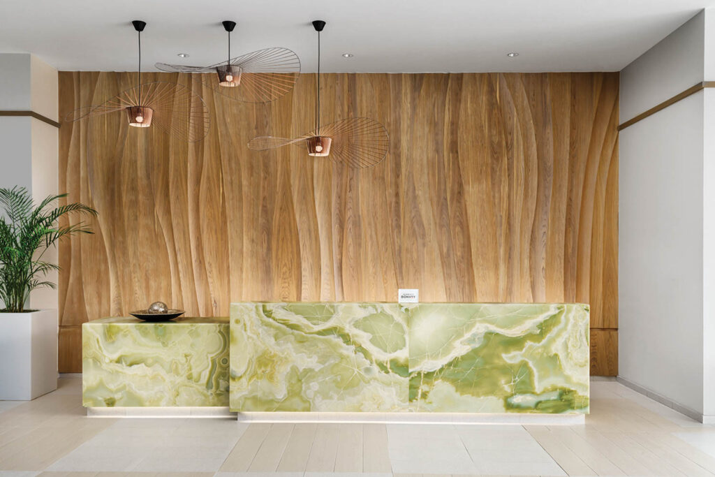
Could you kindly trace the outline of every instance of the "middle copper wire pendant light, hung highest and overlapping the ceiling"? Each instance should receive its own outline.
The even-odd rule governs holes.
[[[287,48],[266,48],[243,56],[231,57],[231,32],[235,21],[222,21],[228,34],[228,56],[225,62],[208,67],[157,63],[162,72],[211,73],[202,81],[216,92],[231,99],[249,103],[267,103],[290,92],[300,74],[300,59]]]

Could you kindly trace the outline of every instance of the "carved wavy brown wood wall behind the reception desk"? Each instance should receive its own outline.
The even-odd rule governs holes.
[[[63,72],[60,113],[133,74]],[[81,369],[81,323],[163,300],[226,315],[231,300],[591,304],[592,371],[616,373],[618,74],[326,74],[323,120],[390,132],[372,169],[250,152],[312,129],[315,75],[270,105],[230,102],[187,144],[121,114],[60,129],[60,190],[97,207],[97,234],[60,247],[61,371]],[[129,130],[132,129],[132,130]]]

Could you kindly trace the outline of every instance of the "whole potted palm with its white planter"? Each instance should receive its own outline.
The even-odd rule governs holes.
[[[43,260],[63,237],[89,234],[73,214],[97,215],[86,205],[59,205],[66,194],[38,205],[24,187],[0,188],[0,400],[30,400],[57,388],[57,310],[29,310],[30,292],[53,287],[46,279],[59,266]]]

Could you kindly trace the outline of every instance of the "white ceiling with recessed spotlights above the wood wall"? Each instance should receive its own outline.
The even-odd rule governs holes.
[[[615,71],[715,0],[0,0],[0,52],[61,70],[205,66],[226,55],[220,21],[238,26],[232,56],[285,46],[325,72]],[[509,51],[518,51],[511,59]],[[345,59],[342,53],[355,56]],[[190,57],[180,59],[178,53]]]

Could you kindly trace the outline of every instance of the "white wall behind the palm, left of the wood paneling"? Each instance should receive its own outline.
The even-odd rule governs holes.
[[[0,109],[34,111],[57,120],[56,69],[30,54],[0,54]],[[56,195],[59,187],[59,132],[33,117],[0,117],[0,187],[26,187],[36,202]],[[57,260],[56,250],[43,257]],[[56,282],[57,275],[48,275]],[[39,289],[30,296],[31,308],[58,308],[56,290]]]

